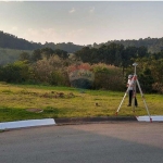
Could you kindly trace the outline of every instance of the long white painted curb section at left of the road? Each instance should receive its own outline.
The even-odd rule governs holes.
[[[55,125],[55,121],[53,118],[43,118],[43,120],[7,122],[7,123],[0,123],[0,129],[45,126],[45,125]]]

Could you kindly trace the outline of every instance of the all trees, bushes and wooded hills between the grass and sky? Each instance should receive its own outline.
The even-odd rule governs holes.
[[[162,43],[163,38],[148,37],[75,48],[72,42],[41,45],[0,32],[0,47],[5,48],[0,49],[0,80],[70,86],[71,66],[87,64],[95,72],[95,89],[124,90],[127,75],[134,73],[133,63],[137,62],[143,91],[163,93]]]

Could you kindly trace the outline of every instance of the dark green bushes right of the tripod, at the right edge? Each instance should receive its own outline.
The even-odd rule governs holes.
[[[153,57],[139,58],[136,60],[137,75],[140,85],[146,92],[160,92],[163,93],[163,59],[155,60]],[[134,67],[128,67],[127,72],[130,74]]]

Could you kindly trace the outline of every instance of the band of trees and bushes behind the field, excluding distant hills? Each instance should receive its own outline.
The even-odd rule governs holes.
[[[51,48],[22,52],[18,61],[0,67],[0,80],[71,86],[68,66],[89,64],[96,76],[93,89],[125,90],[134,62],[143,90],[163,93],[163,51],[150,53],[146,47],[125,48],[114,42],[99,49],[84,47],[74,54]]]

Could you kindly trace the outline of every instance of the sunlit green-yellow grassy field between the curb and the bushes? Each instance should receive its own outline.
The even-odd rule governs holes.
[[[143,91],[143,90],[142,90]],[[0,84],[0,122],[47,117],[115,116],[125,92]],[[151,115],[163,115],[163,96],[145,95]],[[120,116],[148,115],[140,93],[135,113],[125,98]],[[117,115],[117,116],[118,116]]]

